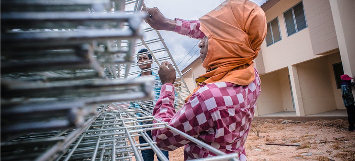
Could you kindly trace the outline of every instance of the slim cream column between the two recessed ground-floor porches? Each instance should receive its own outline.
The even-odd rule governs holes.
[[[290,65],[288,66],[288,70],[289,70],[290,80],[291,80],[293,100],[295,102],[296,116],[305,116],[305,109],[303,106],[300,81],[297,73],[297,66]]]

